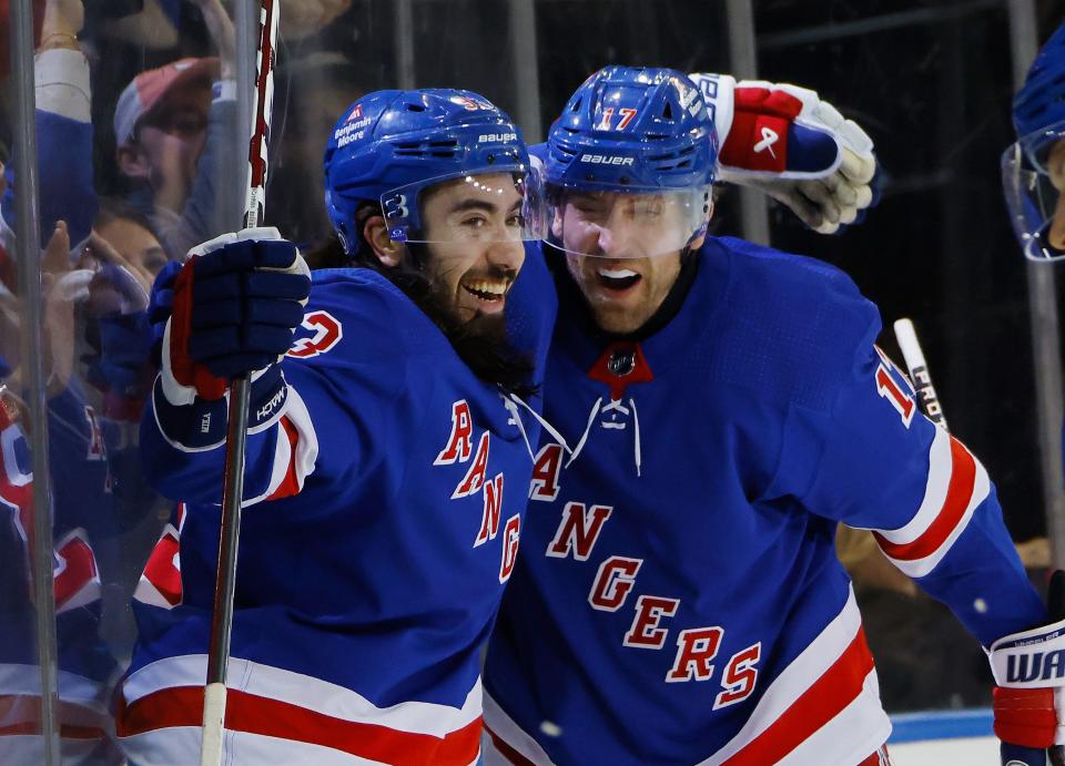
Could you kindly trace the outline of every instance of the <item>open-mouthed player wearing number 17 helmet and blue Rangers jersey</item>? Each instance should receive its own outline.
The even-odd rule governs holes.
[[[487,763],[885,763],[840,521],[985,646],[1045,620],[875,307],[831,266],[707,235],[711,133],[688,78],[625,68],[550,132],[560,438],[489,644]],[[1003,641],[994,662],[1031,672],[1042,644]]]

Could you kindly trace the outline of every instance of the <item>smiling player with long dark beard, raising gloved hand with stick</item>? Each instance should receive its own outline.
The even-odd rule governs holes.
[[[519,395],[555,310],[523,272],[542,196],[518,130],[467,91],[356,101],[325,176],[351,268],[310,279],[260,228],[200,246],[174,284],[142,445],[184,502],[121,687],[138,764],[199,757],[224,397],[253,370],[226,763],[478,758],[478,650],[539,433]]]

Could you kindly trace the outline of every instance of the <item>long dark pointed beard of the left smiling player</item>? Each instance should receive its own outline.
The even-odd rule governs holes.
[[[473,319],[458,315],[454,293],[429,278],[420,268],[428,257],[424,245],[407,243],[414,267],[389,269],[386,276],[410,298],[444,333],[455,353],[481,380],[528,397],[536,390],[530,359],[507,338],[506,308],[499,314],[478,314]]]

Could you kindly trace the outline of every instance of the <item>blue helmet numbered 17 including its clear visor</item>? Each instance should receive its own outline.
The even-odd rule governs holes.
[[[713,120],[687,75],[599,70],[548,135],[548,243],[611,259],[684,251],[706,232],[717,156]]]

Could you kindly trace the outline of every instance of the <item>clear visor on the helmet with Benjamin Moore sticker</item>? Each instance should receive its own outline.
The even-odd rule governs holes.
[[[382,195],[381,207],[395,242],[535,241],[547,222],[535,168],[485,168],[402,186]]]

